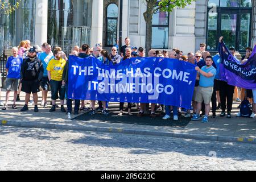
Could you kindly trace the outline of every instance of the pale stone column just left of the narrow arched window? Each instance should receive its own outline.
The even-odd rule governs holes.
[[[93,0],[92,3],[91,47],[102,43],[103,36],[103,0]]]

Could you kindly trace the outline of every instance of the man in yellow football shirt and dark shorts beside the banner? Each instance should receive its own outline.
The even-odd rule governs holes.
[[[48,78],[51,85],[52,92],[52,108],[49,112],[56,110],[56,100],[60,98],[60,110],[65,113],[64,109],[64,98],[65,98],[65,87],[62,86],[62,75],[63,69],[65,67],[66,61],[61,58],[61,50],[55,49],[53,51],[54,59],[49,61],[47,66]],[[59,93],[59,96],[58,96]]]

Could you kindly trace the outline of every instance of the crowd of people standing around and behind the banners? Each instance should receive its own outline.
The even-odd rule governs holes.
[[[220,38],[220,42],[222,41]],[[151,49],[148,51],[148,57],[165,57],[171,59],[177,59],[180,61],[187,61],[191,64],[196,65],[197,78],[195,89],[193,92],[192,106],[191,109],[184,110],[177,106],[158,105],[151,104],[151,113],[149,113],[150,104],[127,104],[127,114],[131,113],[132,107],[137,107],[138,117],[150,114],[150,117],[156,117],[156,110],[162,111],[165,115],[163,119],[170,119],[171,112],[173,113],[174,121],[178,120],[178,115],[181,111],[184,111],[184,117],[189,118],[193,121],[201,119],[201,122],[208,122],[210,113],[210,103],[212,104],[212,118],[216,118],[216,110],[221,110],[220,117],[231,118],[231,111],[233,105],[233,97],[238,102],[241,100],[248,99],[253,113],[250,115],[254,118],[255,104],[256,101],[256,90],[240,89],[241,95],[239,96],[238,88],[232,85],[228,85],[227,82],[219,80],[220,73],[220,56],[211,56],[208,51],[205,50],[206,44],[200,44],[200,50],[193,53],[189,52],[187,55],[183,54],[178,48],[174,48],[170,51],[162,50],[157,51]],[[230,48],[229,51],[236,56],[236,50]],[[68,99],[68,65],[69,60],[65,53],[60,47],[52,49],[48,43],[43,43],[42,47],[34,46],[31,47],[29,40],[20,42],[18,47],[13,47],[13,55],[9,57],[6,63],[6,100],[3,103],[1,101],[2,110],[9,109],[9,98],[11,89],[14,90],[14,100],[11,106],[12,109],[18,109],[16,107],[16,101],[20,101],[20,91],[26,93],[25,104],[20,110],[22,112],[28,110],[28,104],[34,103],[34,111],[38,112],[38,92],[42,90],[42,102],[43,107],[48,106],[47,98],[48,91],[51,90],[51,109],[49,112],[56,111],[59,107],[56,105],[56,100],[60,100],[60,111],[68,114],[68,118],[71,118],[72,104],[75,104],[74,114],[79,114],[79,111],[90,110],[89,114],[94,115],[98,111],[102,114],[108,115],[109,103],[105,101],[98,101],[98,107],[96,108],[96,101],[80,101]],[[246,48],[246,55],[242,56],[241,64],[249,59],[252,49]],[[81,47],[75,46],[71,51],[70,55],[75,55],[81,58],[93,56],[96,59],[102,61],[107,65],[118,64],[121,61],[130,59],[131,57],[145,57],[145,51],[142,47],[133,47],[130,45],[130,39],[125,39],[125,45],[122,46],[121,52],[118,53],[118,45],[112,47],[111,53],[108,53],[105,49],[102,49],[101,43],[90,48],[87,44],[83,44]],[[2,80],[2,79],[0,79]],[[0,86],[1,83],[0,83]],[[41,88],[41,89],[40,89]],[[30,100],[32,93],[33,100]],[[1,92],[0,92],[1,94]],[[234,96],[235,94],[235,96]],[[1,95],[0,95],[1,96]],[[64,104],[67,104],[67,110]],[[217,104],[218,103],[218,104]],[[90,107],[85,107],[85,104],[90,104]],[[227,110],[226,110],[227,109]],[[192,110],[192,112],[191,112]],[[124,103],[119,104],[119,116],[124,113]],[[241,113],[237,113],[237,117],[240,117]]]

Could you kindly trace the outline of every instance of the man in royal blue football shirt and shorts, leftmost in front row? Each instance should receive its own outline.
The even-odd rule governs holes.
[[[18,48],[13,47],[13,56],[9,57],[6,63],[6,99],[5,106],[3,106],[2,110],[6,110],[8,108],[8,101],[10,98],[11,87],[14,89],[14,100],[13,100],[13,109],[17,109],[16,107],[16,98],[19,88],[20,81],[20,68],[22,65],[22,57],[18,55]]]

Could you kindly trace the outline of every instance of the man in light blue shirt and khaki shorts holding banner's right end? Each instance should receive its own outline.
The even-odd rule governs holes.
[[[210,100],[212,98],[213,86],[214,86],[214,77],[216,75],[216,69],[213,67],[213,58],[212,56],[207,56],[205,59],[206,66],[196,67],[196,71],[199,72],[199,87],[196,93],[196,115],[192,118],[192,121],[198,121],[200,119],[200,111],[202,107],[202,102],[204,101],[205,105],[205,117],[202,122],[208,122],[208,115],[210,112]]]

